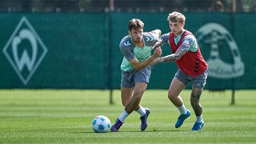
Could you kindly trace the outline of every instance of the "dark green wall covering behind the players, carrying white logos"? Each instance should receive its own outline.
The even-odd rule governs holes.
[[[122,37],[127,34],[127,22],[131,18],[140,18],[145,22],[144,31],[158,28],[162,30],[162,34],[165,34],[170,31],[167,15],[166,13],[2,13],[0,14],[0,88],[118,89],[122,62],[118,45]],[[256,88],[256,84],[252,82],[256,78],[254,62],[256,50],[253,44],[256,38],[256,14],[188,13],[185,15],[185,28],[199,39],[198,43],[207,61],[212,59],[213,44],[209,43],[210,39],[215,38],[210,36],[218,34],[219,40],[216,42],[218,58],[236,66],[234,62],[236,55],[244,64],[244,73],[238,76],[231,78],[229,75],[224,78],[209,76],[206,89]],[[22,21],[22,18],[26,20]],[[231,38],[227,35],[223,36],[221,29],[213,29],[213,33],[204,34],[202,37],[203,34],[198,33],[198,30],[212,22],[224,27]],[[37,53],[30,70],[25,65],[21,70],[15,68],[22,62],[18,64],[14,54],[18,54],[17,60],[17,58],[21,59],[26,51],[31,58],[34,51],[26,38],[13,48],[14,38],[22,38],[18,36],[21,30],[30,30],[37,42]],[[232,51],[233,45],[230,48],[229,43],[232,38],[238,51]],[[164,55],[170,54],[169,46],[162,46],[162,50]],[[26,61],[27,57],[24,58]],[[211,63],[211,68],[219,65],[218,62],[213,65]],[[168,89],[176,71],[177,66],[174,62],[154,66],[149,88]]]

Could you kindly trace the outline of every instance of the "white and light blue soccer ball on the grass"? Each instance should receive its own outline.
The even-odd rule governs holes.
[[[106,133],[110,131],[110,119],[104,115],[98,115],[93,120],[93,129],[96,133]]]

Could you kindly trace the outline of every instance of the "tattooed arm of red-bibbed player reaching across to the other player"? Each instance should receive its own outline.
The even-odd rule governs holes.
[[[169,55],[166,55],[164,57],[159,57],[159,58],[156,58],[154,60],[154,62],[152,62],[151,64],[157,64],[159,62],[171,62],[171,61],[176,61],[180,58],[182,58],[182,55],[186,54],[186,50],[184,49],[178,49],[175,54],[169,54]]]

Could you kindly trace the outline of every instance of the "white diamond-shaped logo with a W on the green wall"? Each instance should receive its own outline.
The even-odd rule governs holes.
[[[30,22],[23,17],[3,48],[3,53],[26,85],[46,55],[47,49]]]

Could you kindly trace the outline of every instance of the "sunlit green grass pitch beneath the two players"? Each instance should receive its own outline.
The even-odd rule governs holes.
[[[256,90],[238,90],[234,106],[230,91],[204,90],[201,103],[205,126],[191,132],[194,113],[182,127],[174,128],[178,110],[166,97],[167,90],[147,90],[142,106],[149,107],[146,131],[140,130],[134,112],[117,133],[97,134],[95,116],[110,121],[122,113],[120,91],[114,90],[0,90],[0,143],[256,143]],[[193,111],[190,90],[182,98]]]

